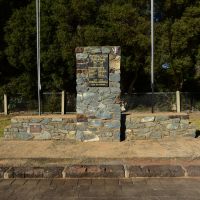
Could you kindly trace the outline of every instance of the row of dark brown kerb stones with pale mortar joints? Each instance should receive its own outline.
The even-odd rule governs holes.
[[[66,167],[0,167],[0,178],[132,178],[196,177],[200,165],[67,165]]]

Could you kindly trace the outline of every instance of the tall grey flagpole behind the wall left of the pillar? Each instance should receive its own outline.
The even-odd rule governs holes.
[[[41,115],[40,103],[40,0],[36,0],[36,25],[37,25],[37,76],[38,76],[38,114]]]

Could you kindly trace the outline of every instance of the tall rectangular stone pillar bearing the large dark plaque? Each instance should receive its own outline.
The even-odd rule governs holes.
[[[77,132],[80,141],[120,141],[118,46],[76,48]]]

